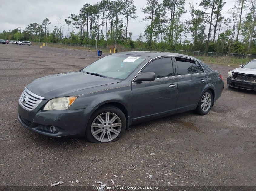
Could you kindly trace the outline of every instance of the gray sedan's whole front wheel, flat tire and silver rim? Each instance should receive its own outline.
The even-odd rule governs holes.
[[[86,138],[93,143],[117,141],[125,132],[126,118],[117,107],[96,110],[89,119]]]

